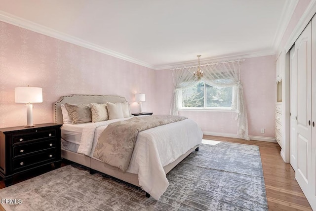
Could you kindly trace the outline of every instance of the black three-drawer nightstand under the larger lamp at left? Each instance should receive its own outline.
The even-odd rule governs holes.
[[[0,128],[0,176],[5,186],[15,174],[54,163],[61,165],[60,124]]]

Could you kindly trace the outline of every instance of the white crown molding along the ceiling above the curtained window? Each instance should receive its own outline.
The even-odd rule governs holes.
[[[222,61],[228,61],[228,60],[237,60],[237,59],[246,59],[246,58],[253,58],[253,57],[260,57],[260,56],[270,56],[275,55],[276,52],[274,50],[262,50],[262,51],[256,51],[251,53],[237,53],[237,54],[230,54],[220,57],[209,57],[206,59],[200,60],[201,65],[209,62],[222,62]],[[178,62],[173,64],[167,64],[167,65],[161,65],[156,66],[155,70],[166,70],[166,69],[173,69],[173,68],[179,68],[184,66],[192,66],[196,65],[197,61],[188,61],[188,62]]]

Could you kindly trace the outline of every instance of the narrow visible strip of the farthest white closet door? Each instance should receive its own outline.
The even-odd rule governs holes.
[[[290,51],[290,164],[297,170],[297,53],[294,47]]]

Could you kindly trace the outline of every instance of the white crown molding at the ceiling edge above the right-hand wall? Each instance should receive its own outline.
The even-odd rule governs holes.
[[[292,18],[292,15],[295,11],[295,8],[297,6],[297,3],[299,0],[290,0],[287,4],[284,5],[283,10],[281,12],[281,19],[277,25],[277,31],[274,38],[274,41],[272,43],[272,47],[277,51],[277,47],[279,43],[281,42],[284,33],[287,29],[287,26]]]

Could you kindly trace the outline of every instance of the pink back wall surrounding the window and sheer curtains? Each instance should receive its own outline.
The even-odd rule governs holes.
[[[247,106],[249,135],[275,136],[275,65],[275,55],[248,58],[241,62],[240,78]],[[171,71],[157,71],[156,80],[159,88],[155,110],[159,114],[168,114],[173,93]],[[180,111],[180,115],[194,119],[203,131],[237,134],[235,113]],[[260,128],[265,128],[264,134],[260,133]]]

